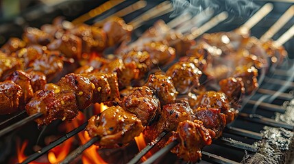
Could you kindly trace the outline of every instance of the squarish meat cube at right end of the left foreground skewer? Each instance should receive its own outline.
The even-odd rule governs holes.
[[[117,75],[113,73],[92,72],[89,74],[82,74],[95,85],[93,91],[94,102],[107,102],[119,99],[119,85]]]

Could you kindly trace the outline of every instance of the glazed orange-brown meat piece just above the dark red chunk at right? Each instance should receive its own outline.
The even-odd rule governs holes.
[[[226,113],[230,109],[227,96],[223,92],[207,91],[197,96],[197,107],[221,109]]]

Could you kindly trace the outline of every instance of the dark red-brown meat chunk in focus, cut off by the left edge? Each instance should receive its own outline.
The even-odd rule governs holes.
[[[0,114],[9,114],[18,111],[21,96],[21,86],[13,81],[0,82]]]

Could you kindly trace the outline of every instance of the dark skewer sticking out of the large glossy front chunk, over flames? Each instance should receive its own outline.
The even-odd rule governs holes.
[[[84,150],[86,150],[87,148],[89,148],[90,146],[92,146],[95,142],[99,141],[98,137],[93,137],[92,139],[90,139],[88,142],[86,142],[84,145],[79,146],[79,148],[73,150],[73,152],[71,152],[65,159],[64,161],[62,161],[60,164],[66,164],[66,163],[70,163],[71,161],[73,161],[75,158],[77,158],[77,156],[79,156],[80,154],[82,154],[82,152]]]

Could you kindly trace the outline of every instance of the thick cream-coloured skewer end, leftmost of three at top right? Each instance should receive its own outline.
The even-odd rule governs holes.
[[[267,16],[269,12],[273,10],[273,4],[267,3],[260,8],[247,22],[244,23],[244,25],[241,26],[241,28],[246,28],[247,30],[252,29],[254,25],[256,25],[262,18]]]

